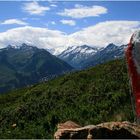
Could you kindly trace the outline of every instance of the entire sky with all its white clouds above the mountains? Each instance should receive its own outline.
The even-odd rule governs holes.
[[[139,9],[140,1],[0,1],[0,48],[26,42],[58,53],[125,44],[140,28]]]

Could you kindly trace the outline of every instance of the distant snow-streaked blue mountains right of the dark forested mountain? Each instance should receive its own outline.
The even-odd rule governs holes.
[[[117,46],[113,43],[104,48],[90,47],[87,45],[69,47],[58,57],[77,69],[83,69],[109,60],[124,56],[127,45]]]

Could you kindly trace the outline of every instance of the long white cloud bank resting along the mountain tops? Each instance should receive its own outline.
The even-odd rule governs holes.
[[[131,35],[138,29],[140,21],[106,21],[70,35],[58,30],[25,26],[1,32],[0,47],[28,43],[58,54],[73,45],[105,47],[109,43],[127,44]]]

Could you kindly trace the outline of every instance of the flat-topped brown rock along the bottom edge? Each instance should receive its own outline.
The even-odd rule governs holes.
[[[54,139],[139,139],[140,125],[130,122],[106,122],[81,127],[68,121],[58,124]]]

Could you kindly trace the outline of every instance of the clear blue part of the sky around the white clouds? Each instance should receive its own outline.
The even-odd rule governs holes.
[[[34,27],[47,27],[49,29],[58,29],[66,33],[72,33],[76,30],[80,30],[81,28],[95,25],[98,22],[108,21],[108,20],[140,20],[140,2],[132,2],[132,1],[107,1],[107,2],[38,2],[39,5],[44,7],[50,7],[50,10],[46,11],[44,15],[30,15],[29,13],[23,10],[24,3],[30,2],[18,2],[18,1],[1,1],[0,2],[0,21],[4,21],[7,19],[19,19],[27,22],[30,26]],[[63,11],[64,9],[72,9],[76,4],[84,5],[90,7],[92,5],[103,6],[107,8],[107,14],[102,14],[98,17],[85,17],[85,18],[72,18],[67,16],[60,16],[57,13]],[[57,7],[53,7],[51,5],[56,5]],[[62,24],[61,20],[74,20],[76,22],[75,26],[69,26],[67,24]],[[52,22],[55,22],[54,25]],[[21,25],[16,24],[4,24],[0,25],[0,31],[5,31],[10,28],[19,27]]]

